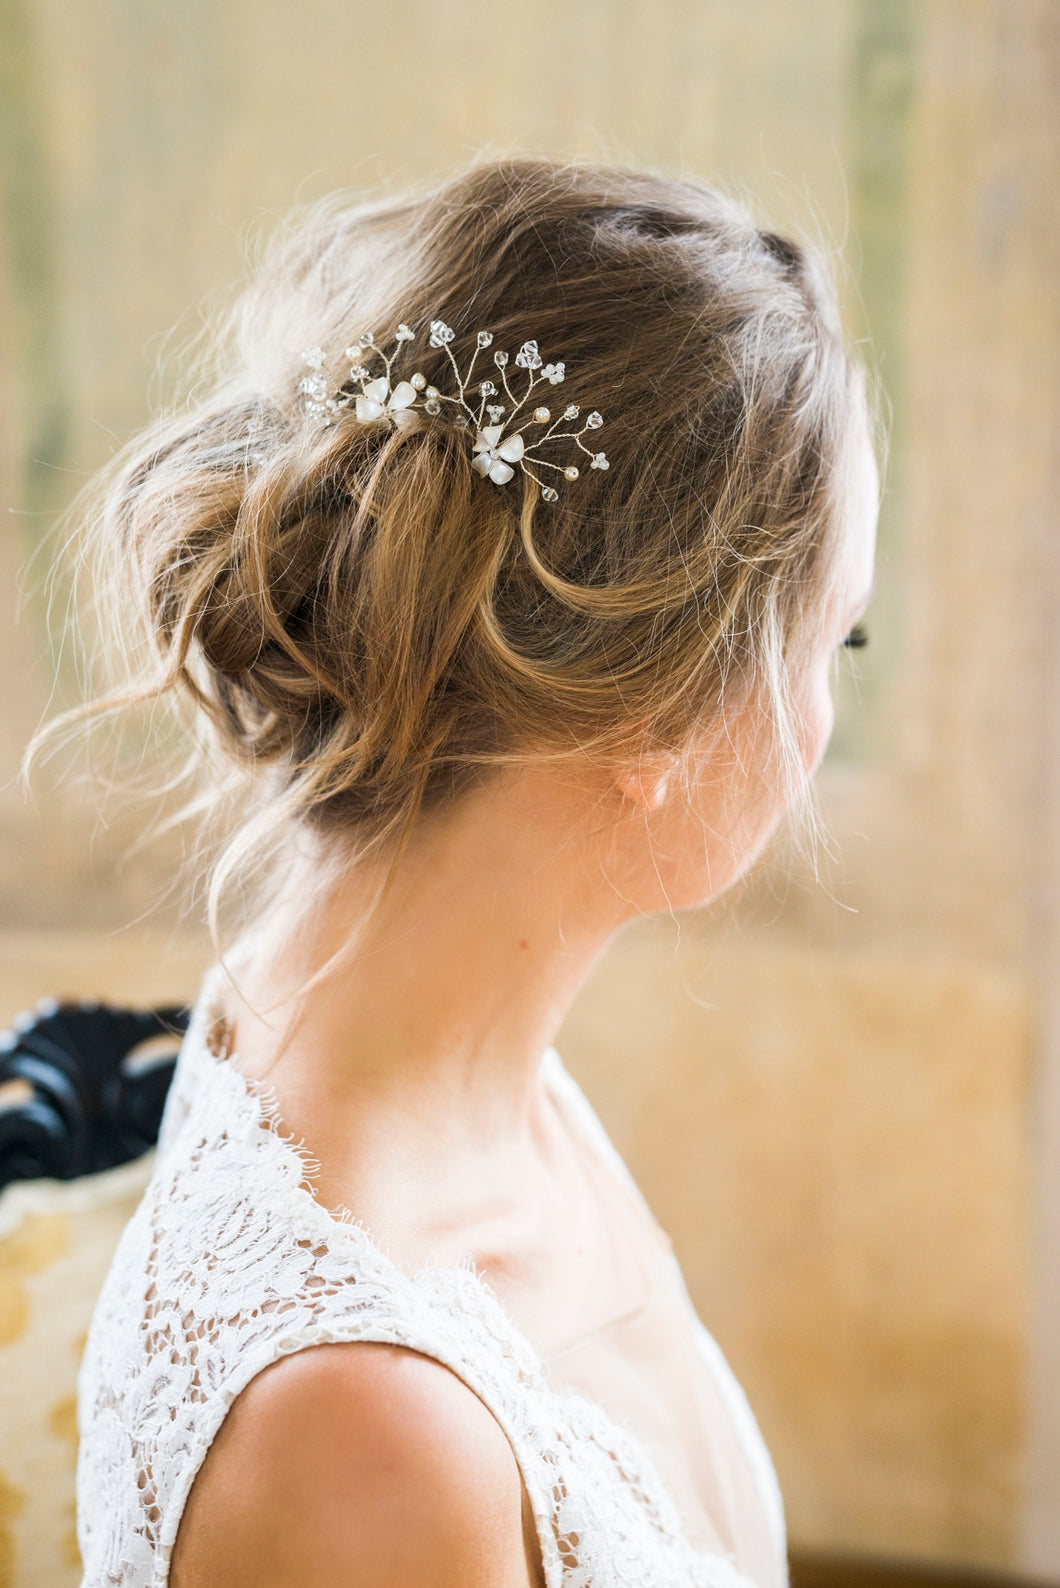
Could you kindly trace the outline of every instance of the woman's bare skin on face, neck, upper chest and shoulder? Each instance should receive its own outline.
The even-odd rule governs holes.
[[[798,680],[812,777],[833,727],[836,646],[871,591],[879,481],[866,434],[839,576]],[[505,772],[416,834],[368,921],[341,883],[297,943],[265,923],[232,997],[240,1069],[268,1077],[284,1129],[400,1262],[471,1256],[540,1350],[638,1301],[628,1205],[587,1162],[540,1058],[627,921],[716,899],[784,815],[752,711],[692,780]],[[689,786],[690,783],[690,786]],[[300,886],[300,865],[290,886]],[[279,915],[279,912],[278,912]],[[300,983],[352,932],[359,953],[305,1005]],[[355,1039],[354,1035],[355,1034]],[[355,1499],[355,1504],[352,1504]],[[440,1364],[374,1345],[303,1350],[235,1401],[192,1488],[175,1588],[530,1588],[540,1559],[513,1451]]]

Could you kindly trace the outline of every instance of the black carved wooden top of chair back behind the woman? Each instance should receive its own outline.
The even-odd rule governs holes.
[[[0,1035],[0,1191],[140,1158],[162,1108],[190,1008],[49,999]]]

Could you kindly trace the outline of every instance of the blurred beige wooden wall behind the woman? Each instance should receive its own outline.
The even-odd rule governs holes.
[[[559,1046],[749,1391],[793,1540],[1060,1574],[1060,6],[0,0],[0,1018],[190,994],[205,964],[171,900],[143,919],[173,854],[121,861],[136,815],[94,827],[68,775],[27,805],[14,770],[73,688],[40,589],[54,511],[144,416],[165,332],[249,227],[482,146],[820,216],[895,407],[873,643],[820,777],[836,859],[628,931]],[[5,1534],[8,1499],[10,1582],[76,1580],[30,1577],[52,1542]]]

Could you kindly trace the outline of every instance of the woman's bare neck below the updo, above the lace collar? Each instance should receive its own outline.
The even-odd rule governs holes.
[[[252,954],[235,956],[248,967],[241,1067],[268,1073],[295,1112],[301,1099],[305,1116],[405,1135],[424,1166],[482,1143],[511,1151],[533,1131],[541,1054],[635,913],[608,881],[586,804],[584,784],[554,772],[495,780],[424,824],[378,908],[378,870],[352,869],[295,942],[257,932]]]

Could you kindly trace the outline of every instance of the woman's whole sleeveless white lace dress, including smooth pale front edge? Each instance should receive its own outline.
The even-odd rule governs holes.
[[[208,1045],[217,986],[214,967],[181,1048],[151,1185],[89,1331],[83,1588],[162,1588],[184,1502],[235,1397],[270,1363],[348,1340],[421,1351],[484,1401],[519,1463],[547,1588],[782,1585],[773,1467],[674,1259],[660,1256],[662,1312],[649,1307],[544,1361],[470,1267],[408,1272],[359,1223],[316,1201],[311,1166],[276,1127],[267,1089]],[[554,1051],[547,1062],[601,1161],[625,1175]],[[655,1348],[659,1331],[674,1328],[687,1356],[670,1337]],[[659,1374],[678,1380],[670,1396],[651,1367],[633,1370],[638,1329]],[[682,1443],[678,1423],[697,1418],[703,1428],[689,1437],[703,1455],[690,1459],[709,1466],[698,1485],[714,1513],[706,1529],[695,1524],[697,1483],[679,1504],[681,1463],[671,1482],[657,1459]]]

